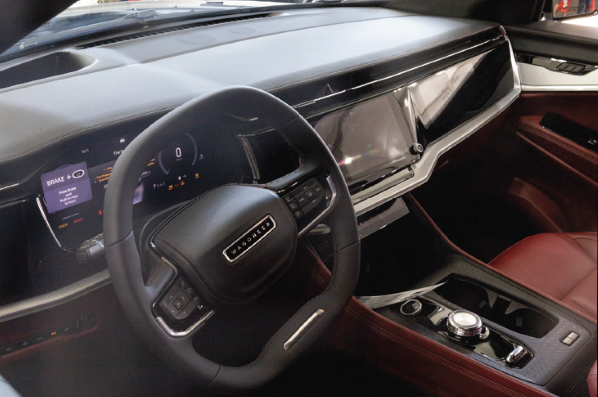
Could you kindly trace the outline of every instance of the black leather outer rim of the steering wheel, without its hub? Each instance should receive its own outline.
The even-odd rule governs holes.
[[[335,190],[332,205],[316,219],[318,222],[299,232],[304,233],[319,223],[325,223],[332,231],[335,261],[327,289],[304,304],[270,338],[257,359],[239,367],[220,365],[197,353],[192,346],[195,332],[182,338],[172,338],[158,325],[151,308],[170,280],[144,283],[138,246],[133,237],[133,195],[147,159],[167,146],[176,135],[193,131],[200,121],[208,117],[206,115],[227,115],[247,120],[258,117],[276,129],[300,154],[303,161],[298,169],[261,185],[261,189],[281,192],[314,172],[325,170]],[[356,287],[359,238],[343,175],[312,126],[285,102],[262,90],[251,87],[218,90],[199,96],[157,120],[118,157],[111,172],[103,208],[106,260],[117,298],[133,328],[158,355],[202,383],[221,390],[252,389],[282,372],[331,325]]]

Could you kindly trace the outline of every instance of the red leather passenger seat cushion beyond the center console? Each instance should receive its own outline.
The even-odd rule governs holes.
[[[596,233],[550,233],[526,238],[490,265],[596,321],[596,256]]]

